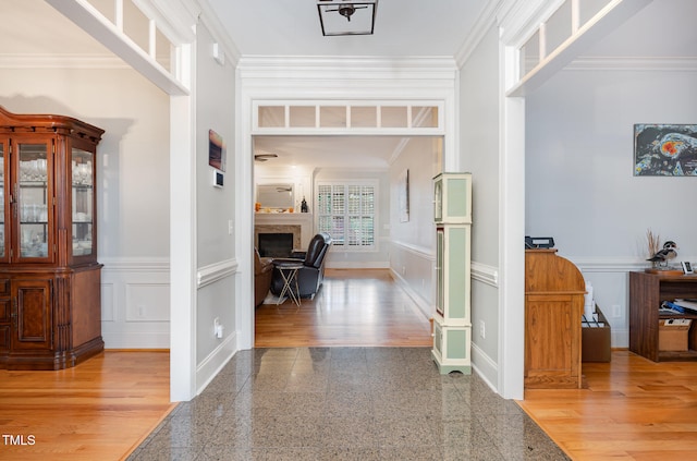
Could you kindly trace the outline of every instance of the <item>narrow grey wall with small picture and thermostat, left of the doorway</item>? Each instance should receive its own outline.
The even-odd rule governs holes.
[[[196,242],[199,282],[196,300],[197,388],[200,390],[236,351],[234,274],[237,268],[234,239],[235,177],[235,71],[212,57],[215,39],[199,24],[196,39]],[[209,130],[225,143],[223,187],[212,185],[208,162]],[[176,223],[173,223],[174,226]],[[188,222],[181,223],[189,225]],[[232,229],[230,229],[232,225]],[[250,252],[250,250],[249,250]],[[215,335],[213,320],[223,327]]]

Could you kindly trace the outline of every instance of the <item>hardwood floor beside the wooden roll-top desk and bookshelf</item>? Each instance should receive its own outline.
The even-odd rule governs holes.
[[[697,460],[697,363],[626,350],[584,363],[584,389],[526,390],[519,405],[574,460]]]

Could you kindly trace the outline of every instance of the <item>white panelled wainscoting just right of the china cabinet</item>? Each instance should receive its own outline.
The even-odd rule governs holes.
[[[169,349],[166,258],[101,258],[101,331],[107,349]]]

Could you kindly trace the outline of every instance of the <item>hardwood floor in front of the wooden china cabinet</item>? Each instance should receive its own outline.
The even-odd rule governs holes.
[[[0,371],[0,459],[119,460],[175,407],[168,352],[107,351],[58,372]]]

